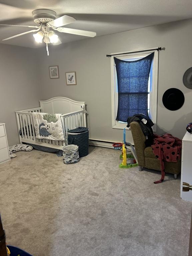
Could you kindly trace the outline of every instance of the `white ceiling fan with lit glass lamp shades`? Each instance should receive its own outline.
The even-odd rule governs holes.
[[[53,10],[37,9],[32,11],[32,15],[33,15],[34,22],[39,24],[39,26],[0,24],[2,26],[37,28],[37,29],[33,29],[30,31],[15,35],[15,36],[5,38],[2,41],[9,40],[25,34],[37,32],[36,34],[33,34],[33,37],[35,38],[35,41],[38,43],[42,43],[42,40],[46,43],[47,55],[49,56],[48,44],[49,43],[52,43],[53,45],[61,44],[61,41],[59,40],[58,35],[56,35],[53,30],[57,30],[58,32],[62,32],[62,33],[80,35],[80,36],[88,36],[88,37],[96,36],[95,32],[62,27],[64,25],[70,24],[77,20],[68,15],[64,15],[56,19],[56,12]],[[53,30],[50,30],[50,29],[53,29]]]

